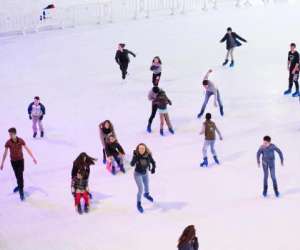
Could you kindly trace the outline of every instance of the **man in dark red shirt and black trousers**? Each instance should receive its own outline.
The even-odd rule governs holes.
[[[20,194],[20,199],[24,200],[24,157],[23,157],[23,147],[27,153],[32,158],[33,162],[37,164],[36,159],[34,158],[31,150],[26,146],[25,141],[17,137],[17,130],[15,128],[10,128],[8,130],[10,139],[5,143],[5,151],[3,154],[2,162],[0,169],[3,170],[4,162],[7,157],[8,150],[10,151],[11,165],[13,167],[18,186],[14,189],[14,192]]]

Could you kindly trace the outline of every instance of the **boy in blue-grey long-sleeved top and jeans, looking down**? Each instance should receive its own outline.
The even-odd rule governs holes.
[[[271,137],[270,136],[265,136],[263,138],[263,145],[259,148],[257,151],[257,164],[258,167],[260,168],[260,157],[262,155],[262,166],[264,170],[264,189],[263,189],[263,196],[267,196],[268,193],[268,177],[269,177],[269,171],[271,174],[271,178],[273,181],[273,189],[275,192],[276,197],[279,197],[279,191],[278,191],[278,184],[276,180],[276,175],[275,175],[275,152],[278,153],[280,160],[281,160],[281,165],[283,166],[283,154],[281,150],[276,147],[274,144],[271,143]]]

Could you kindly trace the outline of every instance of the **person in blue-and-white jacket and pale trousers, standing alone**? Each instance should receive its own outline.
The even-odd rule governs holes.
[[[32,103],[28,106],[28,115],[29,119],[32,120],[32,129],[33,129],[33,137],[35,138],[37,135],[37,125],[40,129],[40,135],[41,137],[44,137],[44,128],[42,120],[44,118],[44,115],[46,114],[45,106],[40,102],[40,97],[36,96],[34,97],[34,100]]]

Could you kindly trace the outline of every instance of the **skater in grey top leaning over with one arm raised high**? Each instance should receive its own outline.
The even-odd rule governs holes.
[[[203,79],[203,87],[205,88],[205,99],[204,99],[204,103],[202,105],[201,111],[198,114],[198,118],[201,118],[201,116],[204,114],[204,111],[206,109],[206,105],[209,101],[209,98],[213,95],[214,96],[214,106],[218,107],[219,105],[219,109],[220,109],[220,114],[221,116],[224,115],[224,109],[223,109],[223,104],[221,101],[221,96],[220,96],[220,92],[217,89],[217,87],[214,85],[214,83],[210,80],[208,80],[209,75],[212,73],[212,70],[208,70],[208,72],[206,73],[206,75],[204,76]]]

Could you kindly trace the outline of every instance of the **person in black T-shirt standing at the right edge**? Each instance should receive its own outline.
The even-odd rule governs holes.
[[[285,95],[292,93],[293,84],[295,83],[296,90],[293,93],[293,97],[299,96],[299,53],[296,50],[296,44],[291,43],[290,51],[288,53],[287,69],[289,71],[289,88],[284,91]]]

